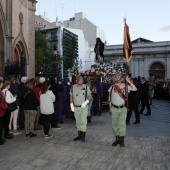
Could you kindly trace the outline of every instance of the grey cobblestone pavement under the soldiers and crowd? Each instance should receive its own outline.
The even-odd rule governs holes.
[[[75,122],[65,119],[62,129],[51,129],[53,138],[15,136],[0,146],[0,170],[169,170],[170,103],[153,100],[152,115],[134,116],[127,126],[125,147],[112,147],[110,114],[94,116],[86,142],[74,142]]]

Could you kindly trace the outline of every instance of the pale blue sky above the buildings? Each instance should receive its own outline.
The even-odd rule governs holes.
[[[170,41],[170,0],[38,0],[36,15],[61,21],[78,12],[105,31],[109,45],[123,43],[125,16],[131,40]]]

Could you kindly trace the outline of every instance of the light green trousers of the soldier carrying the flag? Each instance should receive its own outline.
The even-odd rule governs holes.
[[[115,136],[125,136],[126,134],[127,108],[112,107],[112,128]]]

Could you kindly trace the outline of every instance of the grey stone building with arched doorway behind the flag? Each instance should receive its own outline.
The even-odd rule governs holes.
[[[132,41],[134,53],[128,63],[132,77],[170,79],[170,41],[152,42],[143,38]],[[123,44],[105,47],[105,62],[114,65],[123,58]]]

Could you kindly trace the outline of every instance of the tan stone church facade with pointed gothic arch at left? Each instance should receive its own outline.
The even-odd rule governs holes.
[[[35,76],[36,0],[0,1],[0,76]]]

